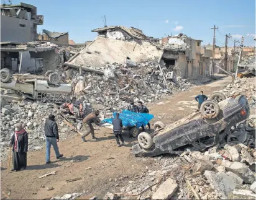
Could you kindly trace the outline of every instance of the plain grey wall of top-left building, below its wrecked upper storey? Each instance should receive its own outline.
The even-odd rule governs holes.
[[[21,27],[20,24],[25,25],[25,27]],[[34,32],[36,32],[36,25],[34,26],[31,20],[1,15],[1,41],[22,43],[34,41]]]

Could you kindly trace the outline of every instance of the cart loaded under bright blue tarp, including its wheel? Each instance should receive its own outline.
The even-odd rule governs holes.
[[[139,128],[143,125],[146,126],[150,120],[153,119],[153,115],[147,113],[134,113],[129,110],[122,110],[119,118],[122,120],[123,129],[129,130],[130,137],[137,137],[139,135]],[[105,124],[105,127],[111,128],[109,126],[112,124],[112,120],[116,118],[116,113],[113,113],[112,118],[107,118],[101,121]],[[108,125],[109,124],[109,125]]]

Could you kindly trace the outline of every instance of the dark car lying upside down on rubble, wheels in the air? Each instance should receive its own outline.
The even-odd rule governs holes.
[[[221,142],[235,124],[250,115],[244,95],[227,98],[213,93],[196,111],[173,124],[158,121],[152,134],[140,133],[139,144],[132,146],[136,156],[152,157],[160,154],[181,154],[184,149],[205,150]]]

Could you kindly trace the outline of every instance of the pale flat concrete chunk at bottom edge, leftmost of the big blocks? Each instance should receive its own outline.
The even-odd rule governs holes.
[[[170,199],[178,189],[176,180],[168,178],[157,191],[153,194],[152,199]]]

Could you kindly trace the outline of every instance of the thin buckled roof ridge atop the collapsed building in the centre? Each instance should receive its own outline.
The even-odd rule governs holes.
[[[142,32],[142,30],[139,30],[138,28],[134,28],[134,27],[127,28],[127,27],[120,26],[120,25],[96,28],[96,29],[92,30],[91,32],[106,32],[107,30],[114,30],[114,29],[124,30],[124,32],[126,32],[128,35],[130,35],[130,37],[134,37],[139,40],[145,40],[147,38],[147,36],[144,35],[144,33]]]

